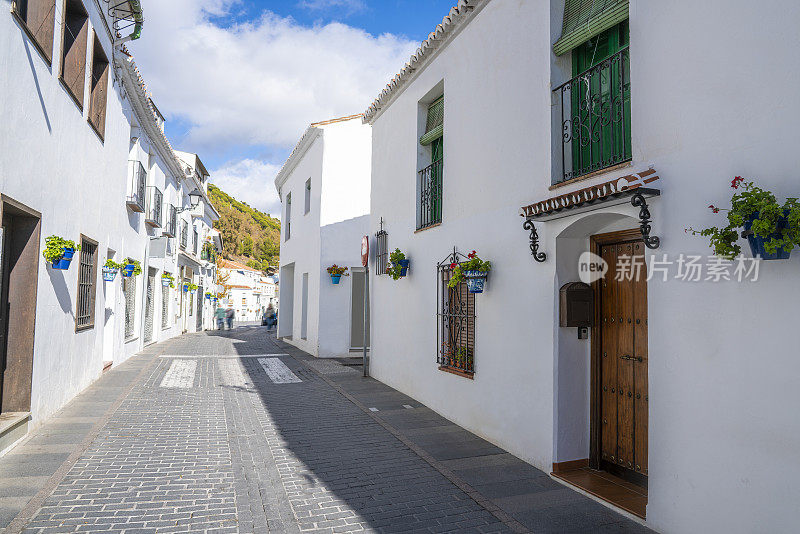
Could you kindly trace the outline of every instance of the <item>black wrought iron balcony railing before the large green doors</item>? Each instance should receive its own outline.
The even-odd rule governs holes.
[[[560,118],[561,172],[554,183],[631,159],[629,50],[582,72],[554,91]]]

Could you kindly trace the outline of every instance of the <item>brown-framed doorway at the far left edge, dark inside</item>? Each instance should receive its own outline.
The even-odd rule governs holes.
[[[0,219],[0,413],[29,412],[41,215],[3,196]]]

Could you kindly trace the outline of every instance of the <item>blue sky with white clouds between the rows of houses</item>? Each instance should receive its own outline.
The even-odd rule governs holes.
[[[268,213],[309,123],[364,111],[456,0],[143,0],[131,49],[175,148]]]

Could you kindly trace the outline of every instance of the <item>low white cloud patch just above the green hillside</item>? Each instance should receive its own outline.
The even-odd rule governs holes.
[[[237,200],[280,218],[281,201],[272,185],[280,165],[244,159],[210,171],[211,181]]]

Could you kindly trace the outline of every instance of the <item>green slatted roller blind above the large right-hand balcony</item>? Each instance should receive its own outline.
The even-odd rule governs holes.
[[[561,37],[553,45],[565,54],[628,18],[628,0],[566,0]]]

